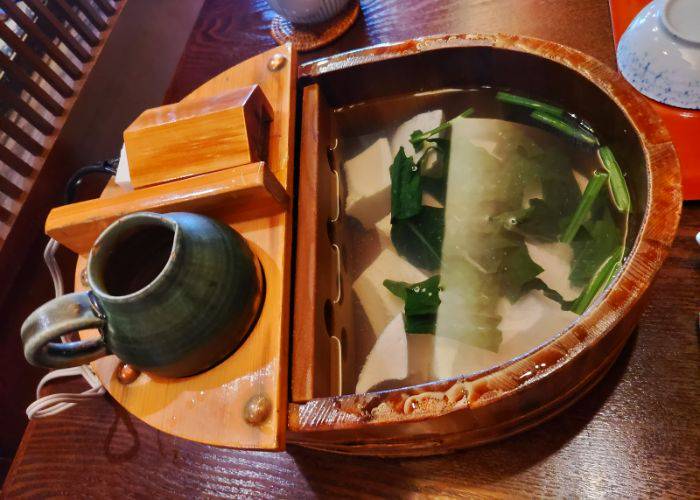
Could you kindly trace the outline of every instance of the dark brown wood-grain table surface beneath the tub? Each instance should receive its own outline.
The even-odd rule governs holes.
[[[410,7],[409,7],[410,6]],[[512,32],[615,64],[606,0],[363,0],[359,22],[309,60],[441,32]],[[166,100],[274,42],[263,0],[207,0]],[[506,441],[443,457],[379,459],[289,447],[233,451],[160,433],[111,399],[29,424],[13,496],[700,495],[700,205],[686,204],[639,328],[610,373],[567,411]],[[76,390],[78,382],[52,389]]]

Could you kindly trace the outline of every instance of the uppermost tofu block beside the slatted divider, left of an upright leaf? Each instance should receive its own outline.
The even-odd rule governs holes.
[[[392,161],[389,141],[380,138],[343,165],[347,186],[345,213],[358,219],[365,229],[371,229],[391,210]]]

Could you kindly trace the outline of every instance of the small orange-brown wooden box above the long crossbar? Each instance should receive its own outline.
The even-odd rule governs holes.
[[[124,131],[131,183],[140,188],[264,160],[272,115],[258,85],[146,110]]]

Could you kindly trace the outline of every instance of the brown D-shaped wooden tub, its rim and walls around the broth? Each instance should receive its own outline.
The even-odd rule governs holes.
[[[603,377],[644,307],[645,292],[673,241],[682,203],[669,135],[619,74],[553,42],[450,35],[314,61],[301,67],[300,83],[300,235],[325,227],[333,215],[332,204],[322,197],[328,190],[324,183],[332,182],[330,170],[323,167],[335,133],[329,110],[387,95],[493,84],[549,96],[591,122],[627,175],[635,238],[613,284],[568,330],[532,351],[463,377],[338,397],[316,397],[329,389],[311,383],[329,349],[319,347],[319,335],[329,334],[321,302],[330,296],[321,290],[331,281],[322,272],[332,259],[329,242],[298,238],[291,391],[297,402],[289,405],[289,443],[358,455],[446,453],[537,425]],[[300,293],[308,287],[318,293]]]

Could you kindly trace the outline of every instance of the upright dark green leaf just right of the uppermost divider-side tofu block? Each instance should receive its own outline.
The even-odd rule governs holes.
[[[389,167],[391,176],[391,219],[409,219],[421,211],[421,176],[413,159],[399,148]]]

